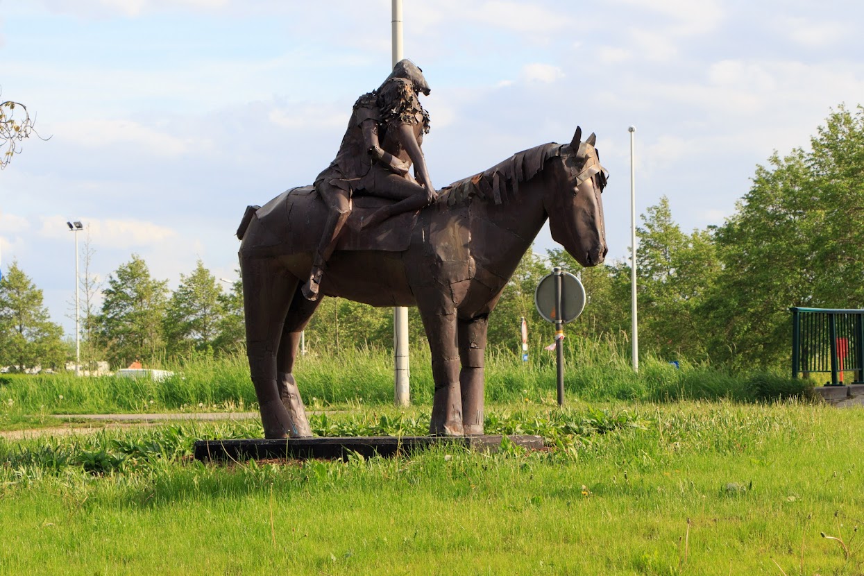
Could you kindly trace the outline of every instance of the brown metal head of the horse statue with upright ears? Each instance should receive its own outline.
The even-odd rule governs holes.
[[[596,136],[581,142],[576,128],[572,142],[550,161],[550,179],[543,207],[549,214],[552,238],[582,266],[596,266],[607,254],[603,201],[607,172],[594,148]]]

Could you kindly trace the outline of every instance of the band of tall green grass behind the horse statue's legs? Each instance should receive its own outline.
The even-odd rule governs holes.
[[[569,399],[667,402],[683,399],[728,399],[758,402],[808,397],[812,383],[770,373],[733,374],[721,367],[690,364],[678,367],[652,355],[640,358],[638,373],[626,343],[565,339],[564,387]],[[434,383],[429,350],[411,351],[412,402],[429,405]],[[245,356],[195,355],[160,366],[175,376],[162,382],[117,377],[76,378],[71,373],[3,377],[0,410],[75,414],[156,412],[162,410],[245,410],[255,408]],[[393,396],[391,352],[358,350],[310,351],[298,358],[295,377],[309,408],[350,403],[387,404]],[[555,353],[531,351],[523,362],[505,349],[486,351],[488,402],[553,403],[556,396]]]

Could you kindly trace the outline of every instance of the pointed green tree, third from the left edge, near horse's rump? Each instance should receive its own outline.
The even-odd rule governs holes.
[[[223,316],[222,289],[200,260],[190,275],[180,275],[180,286],[168,301],[165,336],[168,353],[212,349]]]

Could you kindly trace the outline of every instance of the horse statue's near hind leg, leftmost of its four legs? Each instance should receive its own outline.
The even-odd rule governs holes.
[[[246,317],[246,354],[264,437],[309,435],[302,434],[285,408],[276,377],[276,351],[299,281],[270,258],[241,256],[240,272]]]

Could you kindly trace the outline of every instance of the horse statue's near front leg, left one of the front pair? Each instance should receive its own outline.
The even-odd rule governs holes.
[[[429,350],[432,352],[432,378],[435,380],[429,434],[461,436],[464,431],[459,351],[456,346],[456,313],[455,310],[429,306],[428,302],[424,302],[422,298],[417,299],[423,327],[429,339]]]

